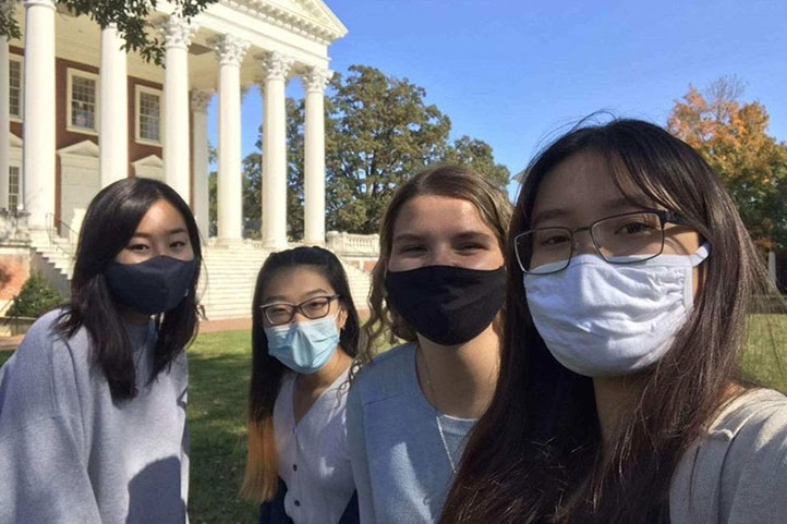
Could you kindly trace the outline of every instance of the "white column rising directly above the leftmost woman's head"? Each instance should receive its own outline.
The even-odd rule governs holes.
[[[129,176],[129,87],[123,38],[114,24],[101,29],[98,147],[101,187]]]

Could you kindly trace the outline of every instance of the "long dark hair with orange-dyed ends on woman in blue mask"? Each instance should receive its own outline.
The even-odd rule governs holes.
[[[358,354],[359,319],[350,294],[350,284],[341,261],[322,247],[295,247],[274,253],[265,260],[252,302],[252,380],[249,391],[249,453],[241,493],[252,500],[270,500],[278,485],[277,451],[274,441],[274,405],[287,367],[268,354],[268,339],[263,327],[263,305],[268,283],[281,270],[294,267],[314,269],[325,277],[339,304],[347,312],[347,322],[339,333],[339,345],[354,357]]]

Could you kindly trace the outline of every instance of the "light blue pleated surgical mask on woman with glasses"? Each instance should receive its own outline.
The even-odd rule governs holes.
[[[296,373],[317,373],[339,345],[336,315],[265,328],[268,354]]]

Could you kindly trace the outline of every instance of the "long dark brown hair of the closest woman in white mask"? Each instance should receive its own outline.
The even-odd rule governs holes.
[[[641,392],[605,455],[592,379],[549,354],[509,245],[497,389],[473,430],[443,523],[668,522],[673,472],[739,377],[752,296],[773,291],[716,174],[687,144],[642,121],[582,124],[541,153],[526,170],[509,237],[530,228],[544,178],[580,153],[605,159],[635,204],[642,196],[627,191],[632,185],[690,221],[712,245],[704,283],[668,353],[631,377]]]

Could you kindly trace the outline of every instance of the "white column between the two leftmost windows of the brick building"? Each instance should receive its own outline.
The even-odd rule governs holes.
[[[32,228],[55,212],[55,2],[25,0],[24,209]]]

